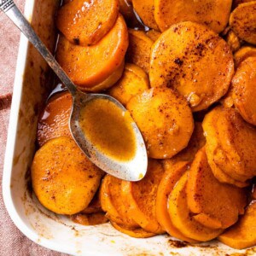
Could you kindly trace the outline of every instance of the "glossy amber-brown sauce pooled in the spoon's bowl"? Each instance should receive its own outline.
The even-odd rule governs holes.
[[[79,124],[87,137],[103,154],[120,161],[136,154],[136,137],[131,115],[113,102],[96,99],[81,109]]]

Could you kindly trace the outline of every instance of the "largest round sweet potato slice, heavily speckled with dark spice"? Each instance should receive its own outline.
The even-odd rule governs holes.
[[[233,74],[229,45],[201,24],[176,24],[162,33],[152,47],[151,86],[177,89],[193,111],[206,109],[224,96]]]

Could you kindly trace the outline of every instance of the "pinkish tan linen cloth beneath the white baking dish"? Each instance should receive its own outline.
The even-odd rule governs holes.
[[[16,0],[15,3],[23,9],[25,0]],[[26,238],[15,227],[3,204],[3,158],[19,40],[19,30],[3,13],[0,13],[0,255],[64,256],[67,254],[50,251]]]

